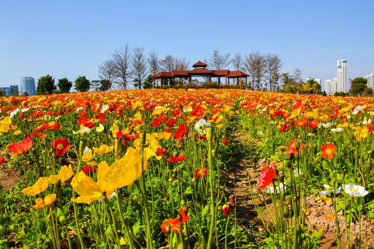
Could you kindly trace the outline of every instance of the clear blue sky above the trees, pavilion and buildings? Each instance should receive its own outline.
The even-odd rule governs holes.
[[[284,72],[348,78],[374,73],[374,1],[4,1],[0,86],[20,76],[98,79],[98,65],[129,43],[191,64],[213,50],[276,53]],[[323,85],[323,84],[322,84]]]

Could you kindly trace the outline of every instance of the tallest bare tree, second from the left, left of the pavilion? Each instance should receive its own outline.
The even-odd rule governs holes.
[[[121,89],[127,89],[128,78],[132,74],[131,72],[131,49],[129,44],[119,50],[115,50],[113,55],[114,67],[117,71],[117,84],[121,86]]]

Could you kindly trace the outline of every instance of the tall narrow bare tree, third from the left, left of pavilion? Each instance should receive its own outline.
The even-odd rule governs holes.
[[[147,75],[147,62],[144,56],[144,47],[136,47],[131,57],[132,78],[134,85],[141,89],[142,81]]]

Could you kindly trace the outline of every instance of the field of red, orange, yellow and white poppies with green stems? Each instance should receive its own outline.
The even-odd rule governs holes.
[[[372,98],[120,90],[2,97],[0,111],[0,172],[21,178],[0,190],[1,248],[318,248],[311,198],[332,208],[337,248],[368,246]],[[226,191],[243,156],[249,229]]]

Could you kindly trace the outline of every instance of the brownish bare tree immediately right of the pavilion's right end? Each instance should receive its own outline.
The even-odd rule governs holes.
[[[251,75],[253,89],[263,90],[264,87],[262,83],[266,71],[264,56],[260,55],[258,51],[249,53],[249,55],[245,57],[244,66],[249,75]]]

